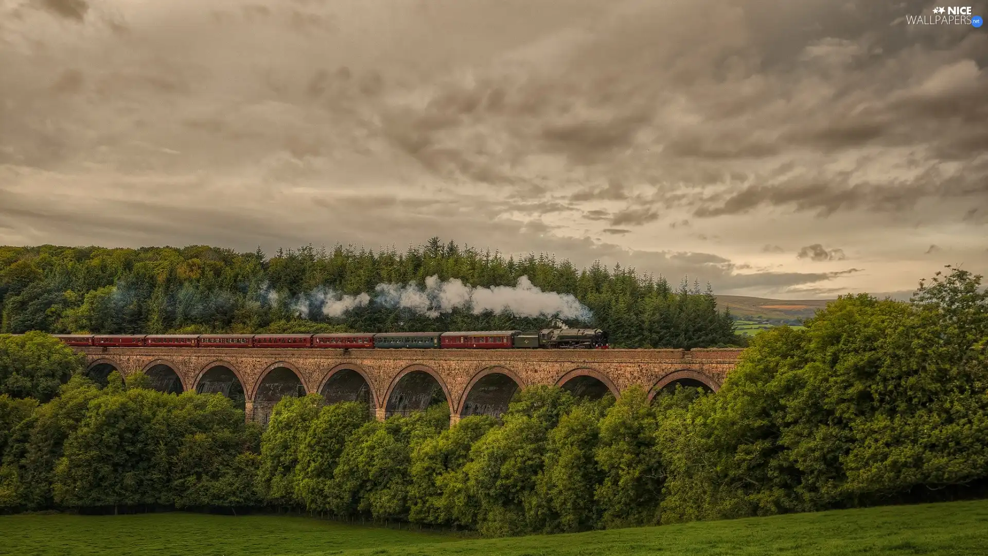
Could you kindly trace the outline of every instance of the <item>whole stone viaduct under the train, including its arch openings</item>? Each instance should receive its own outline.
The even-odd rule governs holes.
[[[716,392],[741,349],[278,349],[76,347],[90,376],[143,372],[164,392],[222,393],[266,423],[284,396],[367,403],[378,419],[446,402],[451,421],[499,416],[522,387],[556,385],[579,396],[649,398],[683,384]]]

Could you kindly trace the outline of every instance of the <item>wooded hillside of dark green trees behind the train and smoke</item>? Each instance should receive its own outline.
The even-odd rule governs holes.
[[[420,286],[427,277],[489,288],[515,286],[522,276],[546,292],[575,296],[592,313],[569,325],[607,330],[616,347],[740,345],[728,311],[719,312],[709,286],[642,276],[633,268],[443,243],[400,252],[385,248],[304,246],[267,257],[194,245],[182,248],[0,246],[0,332],[211,333],[434,330],[535,330],[555,316],[519,317],[458,308],[437,317],[381,304],[337,315],[320,311],[328,291],[370,294],[378,284]]]

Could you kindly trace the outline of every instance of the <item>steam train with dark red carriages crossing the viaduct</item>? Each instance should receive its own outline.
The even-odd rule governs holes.
[[[335,349],[607,349],[600,328],[333,334],[52,334],[87,347],[281,347]]]

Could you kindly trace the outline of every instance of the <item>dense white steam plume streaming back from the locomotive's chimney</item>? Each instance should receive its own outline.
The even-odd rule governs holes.
[[[474,315],[490,311],[517,317],[556,316],[584,322],[592,317],[590,310],[574,296],[543,292],[528,276],[519,278],[516,286],[490,288],[467,286],[457,278],[443,282],[439,276],[430,276],[426,278],[424,289],[415,283],[378,284],[374,292],[375,303],[411,309],[432,318],[459,308],[468,308]]]

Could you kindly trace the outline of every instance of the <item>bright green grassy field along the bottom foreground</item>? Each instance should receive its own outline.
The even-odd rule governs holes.
[[[0,516],[0,554],[19,556],[901,556],[986,553],[988,501],[465,540],[304,517],[230,517],[177,512],[120,516]]]

